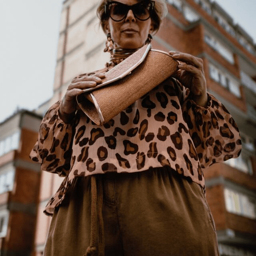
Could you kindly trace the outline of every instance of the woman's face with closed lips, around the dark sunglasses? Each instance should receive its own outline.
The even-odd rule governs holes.
[[[139,0],[118,0],[122,4],[134,5]],[[105,24],[106,32],[111,34],[115,48],[137,49],[142,47],[148,34],[153,32],[152,20],[139,20],[136,18],[132,10],[128,11],[124,20],[114,21],[111,18]]]

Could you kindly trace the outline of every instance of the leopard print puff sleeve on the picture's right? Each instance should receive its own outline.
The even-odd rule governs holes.
[[[208,93],[206,108],[188,96],[182,104],[182,113],[202,168],[239,156],[242,143],[238,126],[213,95]]]

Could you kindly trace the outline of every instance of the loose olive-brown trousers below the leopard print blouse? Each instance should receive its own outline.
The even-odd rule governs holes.
[[[56,208],[44,256],[83,256],[90,245],[90,176]],[[98,175],[106,256],[216,256],[216,230],[200,185],[168,167]]]

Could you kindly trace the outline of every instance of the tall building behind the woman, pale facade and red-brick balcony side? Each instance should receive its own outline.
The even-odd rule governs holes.
[[[208,91],[230,110],[243,141],[239,158],[204,170],[207,199],[222,256],[256,255],[256,47],[250,35],[216,2],[168,0],[168,16],[153,48],[188,52],[204,60]],[[98,0],[63,2],[54,96],[60,100],[78,74],[104,66],[106,36],[96,17]],[[61,178],[42,173],[35,251],[42,254],[50,218],[42,210]]]

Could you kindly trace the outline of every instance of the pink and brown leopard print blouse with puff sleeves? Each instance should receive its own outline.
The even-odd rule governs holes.
[[[81,110],[66,124],[59,117],[59,104],[45,114],[30,153],[42,170],[65,177],[44,210],[48,215],[61,204],[75,177],[167,165],[204,188],[202,168],[237,157],[241,151],[238,127],[222,103],[208,94],[206,108],[196,105],[189,89],[174,78],[104,126],[94,124]]]

